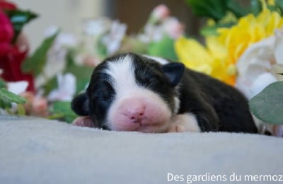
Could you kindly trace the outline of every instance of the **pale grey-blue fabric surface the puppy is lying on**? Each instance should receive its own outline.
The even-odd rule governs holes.
[[[0,116],[0,183],[274,183],[282,154],[282,138],[257,134],[110,132]]]

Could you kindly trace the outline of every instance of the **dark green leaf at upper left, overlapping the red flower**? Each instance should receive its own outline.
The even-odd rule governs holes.
[[[37,14],[31,11],[12,10],[12,11],[6,11],[6,13],[10,18],[11,23],[13,24],[13,30],[15,32],[15,35],[13,37],[13,42],[16,42],[18,35],[21,33],[21,30],[23,29],[23,26],[26,23],[29,23],[34,18],[37,18]]]

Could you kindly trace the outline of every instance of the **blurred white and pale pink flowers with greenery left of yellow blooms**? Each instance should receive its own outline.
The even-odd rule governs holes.
[[[165,5],[152,11],[146,25],[136,35],[126,34],[125,23],[104,17],[84,20],[82,27],[82,38],[58,28],[48,28],[45,39],[34,53],[28,55],[28,50],[25,50],[21,61],[16,59],[18,63],[12,62],[11,66],[17,67],[21,74],[30,75],[33,81],[22,78],[10,80],[2,75],[6,83],[3,81],[1,90],[5,92],[0,91],[0,101],[6,100],[9,105],[1,105],[4,110],[0,113],[72,122],[76,115],[70,108],[71,99],[86,88],[93,67],[105,57],[119,52],[137,52],[177,60],[174,42],[184,33],[183,24],[170,16]],[[13,73],[3,67],[6,61],[1,60],[0,64],[3,74]],[[26,88],[30,84],[34,84],[33,88]],[[24,102],[24,105],[15,104]]]

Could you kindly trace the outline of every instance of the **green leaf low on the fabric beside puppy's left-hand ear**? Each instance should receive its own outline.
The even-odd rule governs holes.
[[[59,117],[60,119],[69,123],[71,123],[77,117],[73,110],[71,110],[71,102],[54,102],[51,113],[51,117]]]

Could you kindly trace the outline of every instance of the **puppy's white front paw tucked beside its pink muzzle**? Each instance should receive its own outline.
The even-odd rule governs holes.
[[[197,118],[192,113],[174,115],[168,132],[200,132]]]

